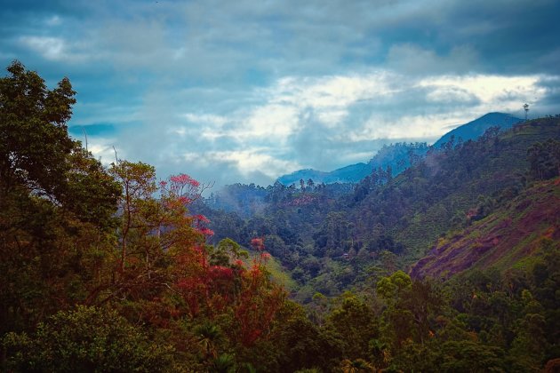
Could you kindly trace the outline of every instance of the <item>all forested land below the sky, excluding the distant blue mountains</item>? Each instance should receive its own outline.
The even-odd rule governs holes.
[[[560,369],[559,118],[204,198],[101,164],[75,94],[0,78],[3,371]]]

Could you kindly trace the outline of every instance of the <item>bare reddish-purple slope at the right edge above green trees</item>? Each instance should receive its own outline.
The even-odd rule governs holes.
[[[540,182],[465,230],[440,238],[411,275],[447,278],[466,270],[524,266],[543,238],[559,244],[558,211],[560,179]]]

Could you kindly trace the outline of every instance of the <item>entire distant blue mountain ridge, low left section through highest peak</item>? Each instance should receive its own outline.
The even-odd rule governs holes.
[[[447,132],[438,139],[432,146],[433,148],[440,148],[444,143],[452,138],[455,141],[468,141],[469,139],[477,139],[484,134],[484,131],[490,127],[500,127],[500,129],[508,130],[514,124],[522,122],[521,118],[506,113],[488,113],[475,119],[472,122],[460,125],[452,131]],[[381,168],[387,169],[389,166],[393,172],[393,176],[398,175],[410,166],[410,157],[422,156],[428,152],[428,146],[422,146],[423,143],[397,143],[389,146],[384,146],[380,151],[373,156],[368,163],[355,163],[342,167],[334,171],[316,171],[313,169],[304,169],[294,171],[290,174],[283,175],[277,179],[284,186],[291,184],[299,184],[300,179],[307,181],[312,179],[315,183],[357,183],[361,179],[372,173],[372,170]],[[412,154],[409,152],[412,150]]]

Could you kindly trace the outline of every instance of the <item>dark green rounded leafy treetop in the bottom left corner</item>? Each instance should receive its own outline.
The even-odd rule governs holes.
[[[150,341],[115,311],[78,306],[41,323],[36,333],[3,339],[13,371],[166,371],[173,348]]]

